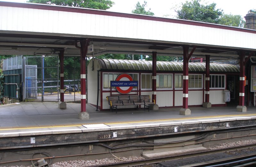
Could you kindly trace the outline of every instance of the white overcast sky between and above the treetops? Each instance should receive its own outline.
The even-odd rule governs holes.
[[[9,2],[26,2],[26,0],[0,0]],[[143,4],[144,0],[112,0],[115,5],[108,11],[116,11],[121,13],[132,13],[137,2]],[[147,8],[155,13],[157,17],[170,15],[169,18],[175,18],[174,8],[179,7],[186,0],[146,0]],[[211,4],[215,2],[218,9],[222,9],[226,14],[241,15],[244,17],[250,9],[256,9],[256,0],[202,0],[204,3]]]

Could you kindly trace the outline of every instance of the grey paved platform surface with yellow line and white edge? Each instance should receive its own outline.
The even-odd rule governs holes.
[[[150,110],[95,111],[86,104],[90,119],[78,119],[80,103],[67,103],[67,109],[59,109],[58,102],[20,102],[0,106],[0,135],[35,131],[68,131],[77,129],[95,130],[108,127],[128,128],[188,123],[220,122],[227,120],[256,119],[256,107],[247,107],[247,112],[237,112],[234,107],[190,107],[191,115],[179,115],[180,108]],[[84,126],[83,126],[84,125]]]

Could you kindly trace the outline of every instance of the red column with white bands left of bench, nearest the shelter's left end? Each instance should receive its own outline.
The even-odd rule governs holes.
[[[89,114],[86,112],[86,54],[90,39],[80,41],[80,59],[81,59],[81,113],[80,119],[89,119]]]

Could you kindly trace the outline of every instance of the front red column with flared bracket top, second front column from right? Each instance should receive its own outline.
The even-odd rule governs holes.
[[[183,46],[183,105],[180,109],[180,115],[190,115],[191,111],[188,109],[188,46]]]

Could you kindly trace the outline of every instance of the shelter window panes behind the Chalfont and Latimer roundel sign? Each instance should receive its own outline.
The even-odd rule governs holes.
[[[116,77],[122,73],[103,73],[103,89],[110,89],[110,81],[116,80]],[[129,74],[133,80],[138,80],[138,74]],[[112,87],[113,88],[113,87]],[[137,87],[133,87],[136,88]]]

